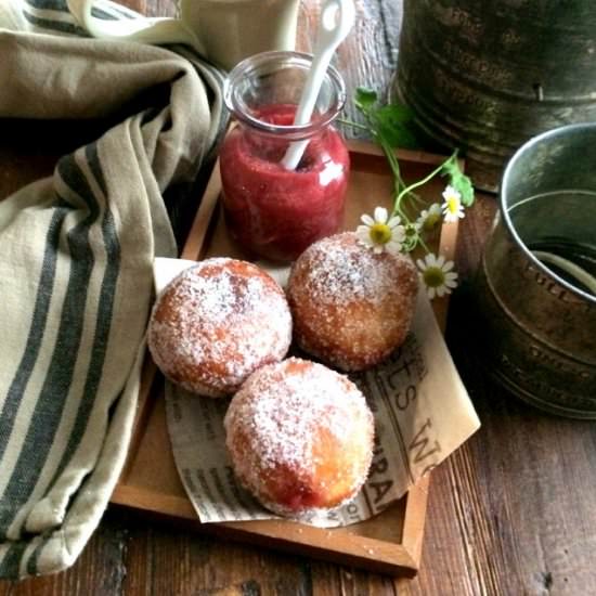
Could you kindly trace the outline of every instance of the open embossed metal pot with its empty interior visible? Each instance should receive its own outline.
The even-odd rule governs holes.
[[[508,163],[475,299],[498,380],[596,418],[596,122],[543,133]]]

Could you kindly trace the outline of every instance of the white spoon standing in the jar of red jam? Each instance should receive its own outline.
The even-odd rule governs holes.
[[[296,109],[294,125],[300,126],[310,122],[333,54],[352,28],[354,17],[355,9],[352,0],[327,0],[323,5],[312,65]],[[291,143],[282,159],[282,166],[286,170],[295,170],[308,144],[308,139]]]

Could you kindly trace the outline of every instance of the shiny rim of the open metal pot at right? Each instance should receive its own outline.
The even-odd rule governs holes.
[[[521,158],[523,154],[526,154],[529,150],[534,147],[535,145],[548,141],[553,138],[560,137],[568,134],[569,132],[572,132],[574,130],[581,130],[581,129],[593,129],[596,132],[596,122],[576,122],[572,125],[565,125],[561,127],[557,127],[550,130],[547,130],[545,132],[541,132],[540,134],[536,134],[526,141],[521,146],[519,146],[511,158],[507,161],[507,165],[505,166],[505,170],[503,171],[503,177],[501,179],[501,189],[498,192],[498,207],[501,211],[501,217],[503,218],[503,221],[505,222],[505,228],[508,231],[508,233],[511,235],[514,242],[518,246],[518,248],[521,249],[523,255],[545,275],[548,277],[552,277],[555,280],[558,284],[563,286],[566,289],[574,294],[575,296],[579,296],[583,300],[587,300],[593,306],[596,307],[596,296],[588,294],[587,291],[584,291],[583,289],[574,286],[573,284],[569,283],[567,280],[558,275],[555,271],[553,271],[550,268],[546,267],[537,257],[533,255],[533,252],[528,248],[521,236],[518,234],[514,222],[511,220],[511,216],[509,215],[508,205],[507,205],[507,189],[509,187],[509,181],[513,176],[513,171],[517,166],[518,160]]]

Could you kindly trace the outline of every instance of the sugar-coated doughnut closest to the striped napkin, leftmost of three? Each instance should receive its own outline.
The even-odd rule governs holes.
[[[291,341],[283,289],[257,265],[198,262],[164,289],[147,344],[164,375],[189,391],[233,393],[259,366],[282,360]]]

